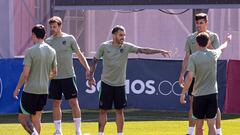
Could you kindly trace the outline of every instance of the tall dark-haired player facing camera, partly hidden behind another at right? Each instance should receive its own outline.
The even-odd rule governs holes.
[[[182,63],[182,70],[179,76],[179,84],[181,86],[183,86],[183,82],[184,82],[184,75],[186,73],[186,68],[187,68],[187,64],[188,64],[188,60],[191,54],[193,54],[194,52],[196,52],[198,50],[198,46],[196,45],[196,36],[198,33],[200,32],[207,32],[209,34],[209,40],[210,40],[210,44],[208,45],[209,49],[217,49],[220,45],[219,42],[219,38],[218,35],[214,32],[211,32],[209,30],[207,30],[208,28],[208,16],[205,13],[198,13],[195,15],[195,24],[197,27],[197,31],[192,33],[191,35],[189,35],[187,37],[187,41],[186,41],[186,45],[185,45],[185,57],[183,59],[183,63]],[[194,126],[195,126],[195,122],[192,118],[192,102],[193,102],[193,96],[192,96],[192,91],[193,91],[193,85],[194,85],[194,78],[193,81],[189,87],[189,91],[188,91],[188,95],[189,95],[189,112],[188,112],[188,120],[189,120],[189,127],[188,127],[188,135],[193,135],[194,134]],[[220,126],[220,122],[221,122],[221,112],[218,109],[218,115],[217,115],[217,131],[218,134],[221,135],[221,126]]]

